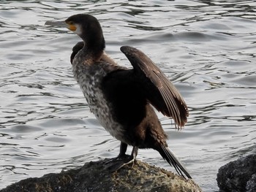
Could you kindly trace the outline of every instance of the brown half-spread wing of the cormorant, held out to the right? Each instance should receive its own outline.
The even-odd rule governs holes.
[[[120,50],[131,62],[148,101],[163,115],[172,117],[178,128],[183,127],[189,115],[187,104],[170,80],[140,50],[129,46],[123,46]]]

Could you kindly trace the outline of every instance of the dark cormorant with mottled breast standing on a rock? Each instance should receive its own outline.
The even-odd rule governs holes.
[[[176,128],[187,123],[187,105],[165,74],[143,52],[129,46],[121,47],[121,52],[133,69],[118,66],[105,53],[102,28],[93,16],[72,15],[65,24],[83,39],[73,47],[70,58],[75,80],[91,112],[121,141],[118,158],[125,156],[127,145],[133,147],[131,160],[135,159],[138,148],[152,148],[174,166],[178,174],[192,178],[167,148],[167,135],[152,107],[173,118]]]

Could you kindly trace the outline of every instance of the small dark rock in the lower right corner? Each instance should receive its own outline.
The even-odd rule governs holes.
[[[256,154],[238,158],[219,168],[217,182],[220,191],[256,191]]]

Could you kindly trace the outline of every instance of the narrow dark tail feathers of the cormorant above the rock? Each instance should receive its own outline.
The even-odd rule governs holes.
[[[159,153],[162,155],[162,158],[165,158],[165,160],[170,164],[170,166],[173,166],[176,169],[176,172],[178,172],[179,175],[186,179],[186,177],[184,176],[185,174],[189,179],[192,179],[189,172],[187,171],[185,166],[181,164],[181,161],[178,160],[176,155],[167,147],[163,145],[161,147],[162,151],[159,151]]]

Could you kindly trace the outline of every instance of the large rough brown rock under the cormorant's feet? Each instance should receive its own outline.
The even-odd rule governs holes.
[[[89,162],[80,169],[72,169],[59,174],[45,174],[40,178],[29,178],[14,183],[1,192],[14,191],[201,191],[192,180],[185,180],[172,172],[141,161],[127,164],[113,172],[120,161]]]

